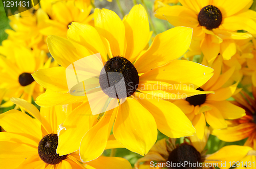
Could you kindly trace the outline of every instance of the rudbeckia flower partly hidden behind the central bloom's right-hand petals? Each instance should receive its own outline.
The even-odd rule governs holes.
[[[238,85],[236,83],[224,87],[233,74],[234,67],[221,74],[222,57],[218,57],[212,68],[214,68],[214,76],[198,90],[214,91],[215,94],[200,94],[173,102],[191,120],[200,139],[203,137],[206,122],[212,128],[222,129],[227,127],[225,119],[236,119],[245,115],[244,109],[226,101],[236,92]]]

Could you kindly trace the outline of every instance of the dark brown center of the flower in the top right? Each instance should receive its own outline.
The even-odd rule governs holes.
[[[222,21],[221,11],[215,6],[207,5],[199,12],[198,21],[207,30],[218,28]]]

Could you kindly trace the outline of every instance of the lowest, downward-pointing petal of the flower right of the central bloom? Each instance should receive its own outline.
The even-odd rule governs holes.
[[[192,120],[192,124],[196,129],[198,138],[203,139],[206,126],[204,114],[200,113],[198,115],[195,115],[195,117]]]

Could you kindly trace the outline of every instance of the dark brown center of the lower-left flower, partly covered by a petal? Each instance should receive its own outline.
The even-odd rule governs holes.
[[[56,153],[58,146],[58,135],[48,134],[40,140],[38,144],[38,155],[42,161],[47,164],[58,164],[62,160],[66,159],[67,155],[59,156]]]

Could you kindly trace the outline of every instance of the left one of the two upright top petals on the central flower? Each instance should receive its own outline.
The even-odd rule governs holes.
[[[114,56],[124,56],[125,28],[119,16],[108,9],[95,9],[95,29],[108,39]]]

